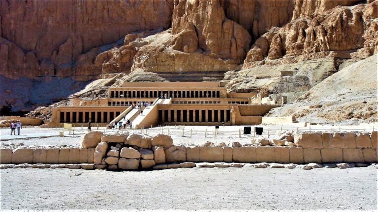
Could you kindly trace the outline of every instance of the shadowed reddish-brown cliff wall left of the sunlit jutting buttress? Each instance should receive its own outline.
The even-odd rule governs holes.
[[[172,9],[172,0],[2,0],[1,74],[11,79],[99,75],[101,66],[92,63],[113,46],[105,45],[132,31],[169,28]]]

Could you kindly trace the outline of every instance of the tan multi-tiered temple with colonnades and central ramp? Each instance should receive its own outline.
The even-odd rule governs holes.
[[[125,82],[122,87],[110,88],[107,96],[77,98],[72,106],[54,108],[50,125],[104,125],[127,119],[138,129],[157,125],[254,125],[260,124],[271,108],[280,106],[261,104],[265,96],[258,93],[227,92],[220,82]],[[139,109],[140,102],[143,106]]]

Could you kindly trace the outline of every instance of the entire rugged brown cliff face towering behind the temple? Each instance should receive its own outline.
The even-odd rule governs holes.
[[[292,101],[378,52],[378,0],[0,1],[0,23],[6,78],[218,80],[229,71],[230,91]]]

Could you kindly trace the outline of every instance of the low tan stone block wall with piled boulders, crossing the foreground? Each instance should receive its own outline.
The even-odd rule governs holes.
[[[378,162],[377,132],[296,133],[295,146],[290,147],[174,146],[170,136],[160,134],[153,138],[138,133],[113,133],[87,137],[91,137],[93,143],[97,143],[95,148],[0,149],[0,164],[94,163],[99,169],[143,169],[158,164],[175,167],[172,163],[182,162],[298,164]],[[83,145],[86,143],[88,141],[83,141]]]

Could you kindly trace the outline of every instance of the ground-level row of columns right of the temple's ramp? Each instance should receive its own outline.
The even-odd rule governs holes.
[[[229,122],[230,110],[159,110],[159,122]]]

